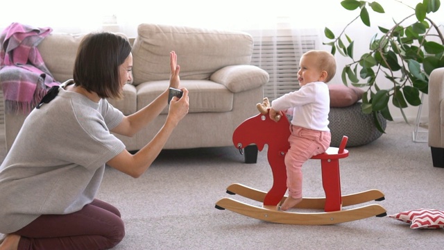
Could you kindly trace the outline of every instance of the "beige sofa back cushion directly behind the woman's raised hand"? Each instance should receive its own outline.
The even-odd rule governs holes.
[[[169,79],[170,51],[178,55],[181,79],[208,80],[222,67],[249,65],[253,38],[239,31],[140,24],[133,46],[134,84]]]

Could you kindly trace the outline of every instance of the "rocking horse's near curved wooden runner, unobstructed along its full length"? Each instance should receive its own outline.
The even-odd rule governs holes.
[[[261,219],[266,222],[296,225],[329,225],[386,215],[386,210],[377,204],[328,213],[293,213],[259,208],[234,199],[222,198],[216,202],[216,208],[221,210],[228,209],[234,213]]]

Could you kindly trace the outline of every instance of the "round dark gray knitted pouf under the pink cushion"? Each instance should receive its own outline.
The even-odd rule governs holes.
[[[347,147],[373,142],[382,135],[373,122],[373,115],[362,113],[361,102],[345,108],[330,108],[328,119],[330,120],[328,127],[332,133],[330,147],[339,147],[343,135],[348,136]],[[378,114],[378,119],[385,130],[386,119],[381,114]]]

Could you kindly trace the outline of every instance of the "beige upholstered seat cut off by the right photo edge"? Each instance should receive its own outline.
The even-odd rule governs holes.
[[[434,167],[444,167],[444,68],[429,77],[429,147]]]

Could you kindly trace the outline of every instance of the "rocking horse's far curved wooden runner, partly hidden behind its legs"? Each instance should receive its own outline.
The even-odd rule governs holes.
[[[234,183],[227,188],[228,194],[238,194],[241,197],[252,199],[253,201],[264,202],[266,192],[247,187],[239,183]],[[282,202],[287,199],[287,196],[282,198]],[[379,190],[367,190],[355,194],[348,194],[342,196],[342,206],[352,206],[368,201],[383,201],[384,194]],[[325,198],[311,198],[304,197],[302,201],[293,208],[311,208],[323,209],[325,207]]]

